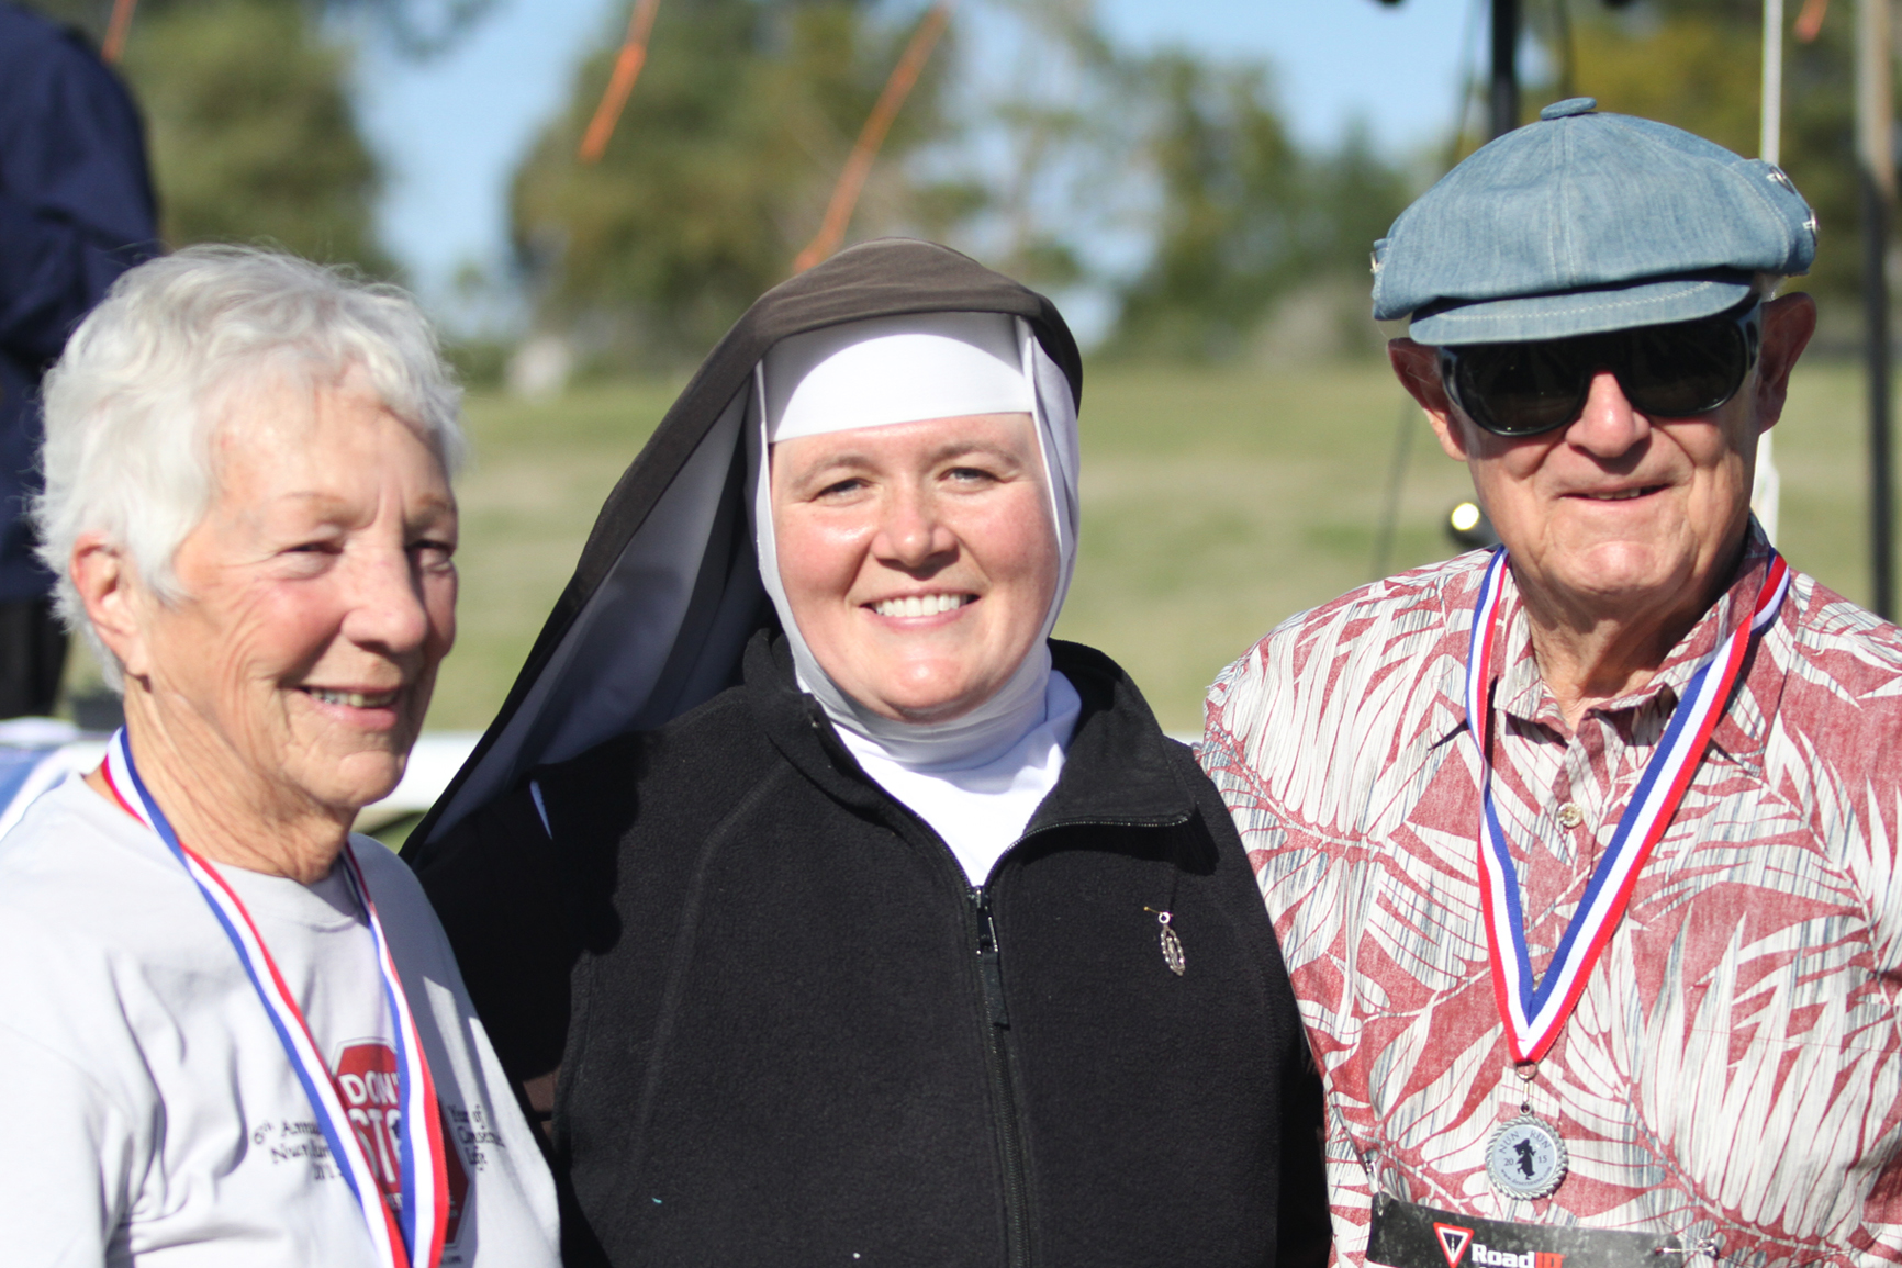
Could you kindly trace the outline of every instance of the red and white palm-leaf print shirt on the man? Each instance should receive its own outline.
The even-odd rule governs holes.
[[[1527,1085],[1493,998],[1476,863],[1463,675],[1485,561],[1303,612],[1208,698],[1202,764],[1328,1084],[1337,1257],[1362,1262],[1371,1196],[1387,1192],[1480,1219],[1672,1232],[1706,1266],[1902,1262],[1902,629],[1795,576]],[[1493,789],[1535,973],[1693,663],[1750,618],[1765,567],[1754,532],[1660,673],[1577,732],[1506,582]],[[1571,1169],[1550,1198],[1510,1200],[1484,1146],[1527,1101]]]

